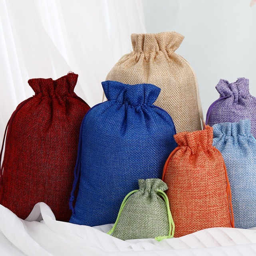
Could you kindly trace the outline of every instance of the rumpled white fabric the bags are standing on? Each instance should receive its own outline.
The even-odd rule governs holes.
[[[36,204],[21,220],[0,205],[2,256],[256,255],[256,230],[209,228],[180,238],[119,240],[105,234],[111,224],[89,227],[56,221],[49,206]]]

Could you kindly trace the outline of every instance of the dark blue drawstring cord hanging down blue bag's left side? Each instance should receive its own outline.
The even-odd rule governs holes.
[[[75,189],[80,177],[80,171],[81,171],[81,151],[82,151],[82,133],[83,133],[83,123],[84,123],[84,118],[83,121],[81,123],[81,127],[80,127],[80,132],[79,132],[79,142],[78,142],[78,151],[77,151],[77,158],[76,158],[76,163],[75,163],[75,169],[74,169],[74,182],[73,182],[73,187],[72,187],[72,191],[70,194],[70,198],[69,198],[69,209],[72,210],[72,213],[75,213],[75,209],[73,207],[73,201],[75,200]]]

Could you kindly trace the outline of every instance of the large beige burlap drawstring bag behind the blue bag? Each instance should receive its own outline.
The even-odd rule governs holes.
[[[177,32],[131,34],[133,52],[123,56],[106,78],[132,85],[152,83],[160,87],[155,105],[171,115],[177,133],[201,130],[203,120],[194,71],[175,53],[183,38]]]

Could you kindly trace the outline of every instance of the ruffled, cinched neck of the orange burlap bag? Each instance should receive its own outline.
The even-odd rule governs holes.
[[[177,133],[174,139],[178,147],[189,147],[192,153],[196,153],[199,148],[208,151],[212,148],[213,129],[206,125],[202,131]]]

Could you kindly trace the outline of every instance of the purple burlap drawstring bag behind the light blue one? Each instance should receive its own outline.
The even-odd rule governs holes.
[[[210,105],[206,114],[206,124],[239,122],[250,119],[252,135],[256,137],[256,97],[249,92],[249,80],[241,77],[229,83],[220,79],[216,85],[220,97]]]

